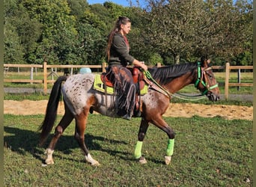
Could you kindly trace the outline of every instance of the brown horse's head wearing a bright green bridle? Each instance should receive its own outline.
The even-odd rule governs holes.
[[[211,101],[218,101],[219,87],[209,64],[210,59],[206,58],[201,58],[201,62],[198,62],[198,79],[195,82],[195,87]]]

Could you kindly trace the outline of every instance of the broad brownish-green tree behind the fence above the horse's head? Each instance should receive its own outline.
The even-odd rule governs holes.
[[[246,16],[252,6],[247,1],[147,2],[144,19],[148,24],[142,35],[149,39],[151,49],[164,58],[172,55],[176,64],[180,58],[192,61],[201,55],[222,56],[228,61],[243,51],[246,37],[252,34],[248,31],[252,18]]]

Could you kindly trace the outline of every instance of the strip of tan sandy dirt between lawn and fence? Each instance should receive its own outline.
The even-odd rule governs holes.
[[[47,102],[47,100],[4,100],[4,114],[45,114]],[[64,104],[62,102],[58,107],[58,114],[64,114]],[[201,117],[219,116],[227,120],[253,120],[253,107],[170,103],[168,110],[164,114],[165,117],[192,117],[193,115]]]

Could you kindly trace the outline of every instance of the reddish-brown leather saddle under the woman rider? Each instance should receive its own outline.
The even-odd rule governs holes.
[[[136,95],[135,95],[135,116],[140,116],[140,104],[141,104],[141,91],[145,87],[144,82],[144,74],[139,70],[139,67],[133,67],[129,68],[129,70],[132,72],[132,79],[133,82],[136,84]],[[101,81],[110,88],[114,88],[113,83],[109,80],[109,74],[108,73],[101,73],[100,75]],[[137,86],[138,85],[138,86]]]

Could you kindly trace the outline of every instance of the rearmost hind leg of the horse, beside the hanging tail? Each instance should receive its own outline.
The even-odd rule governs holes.
[[[71,114],[70,110],[65,107],[65,114],[61,118],[61,121],[58,123],[58,126],[56,126],[52,141],[50,142],[48,148],[46,149],[46,156],[47,156],[47,158],[45,160],[46,165],[54,164],[53,159],[52,159],[52,153],[55,149],[55,145],[58,141],[58,138],[61,137],[64,130],[67,128],[67,126],[69,126],[69,124],[71,123],[73,118],[74,118],[73,114]]]

